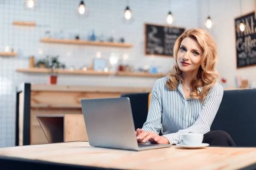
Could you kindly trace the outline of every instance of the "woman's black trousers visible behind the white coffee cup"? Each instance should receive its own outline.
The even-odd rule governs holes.
[[[210,146],[236,146],[231,136],[222,130],[213,130],[204,134],[203,143]]]

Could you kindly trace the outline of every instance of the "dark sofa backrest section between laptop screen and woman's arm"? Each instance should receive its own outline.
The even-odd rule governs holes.
[[[148,93],[122,94],[120,97],[129,97],[131,111],[134,118],[135,130],[142,128],[148,116]]]

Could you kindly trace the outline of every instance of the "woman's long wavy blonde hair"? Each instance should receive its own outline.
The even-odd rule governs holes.
[[[217,45],[208,31],[202,28],[192,28],[184,31],[180,37],[177,38],[174,49],[173,56],[175,57],[175,66],[172,68],[173,73],[169,74],[169,79],[166,82],[166,86],[170,90],[176,90],[179,85],[179,80],[183,82],[181,77],[182,71],[177,64],[177,54],[180,49],[180,44],[184,38],[190,37],[197,40],[201,48],[203,49],[201,66],[198,71],[198,76],[192,79],[191,82],[191,93],[190,98],[200,99],[204,103],[204,99],[212,86],[218,81],[219,74],[215,71],[215,65],[217,63]],[[198,88],[202,87],[201,93],[199,94]]]

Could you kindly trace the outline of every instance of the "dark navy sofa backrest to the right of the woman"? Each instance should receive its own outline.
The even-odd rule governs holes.
[[[256,146],[256,89],[224,91],[211,130],[224,130],[237,146]]]

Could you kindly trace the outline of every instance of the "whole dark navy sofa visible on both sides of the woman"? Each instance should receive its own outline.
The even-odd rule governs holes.
[[[147,119],[148,94],[122,94],[129,97],[135,129],[141,128]],[[256,89],[224,91],[218,113],[211,130],[224,130],[237,146],[256,146]],[[161,135],[161,134],[160,134]]]

